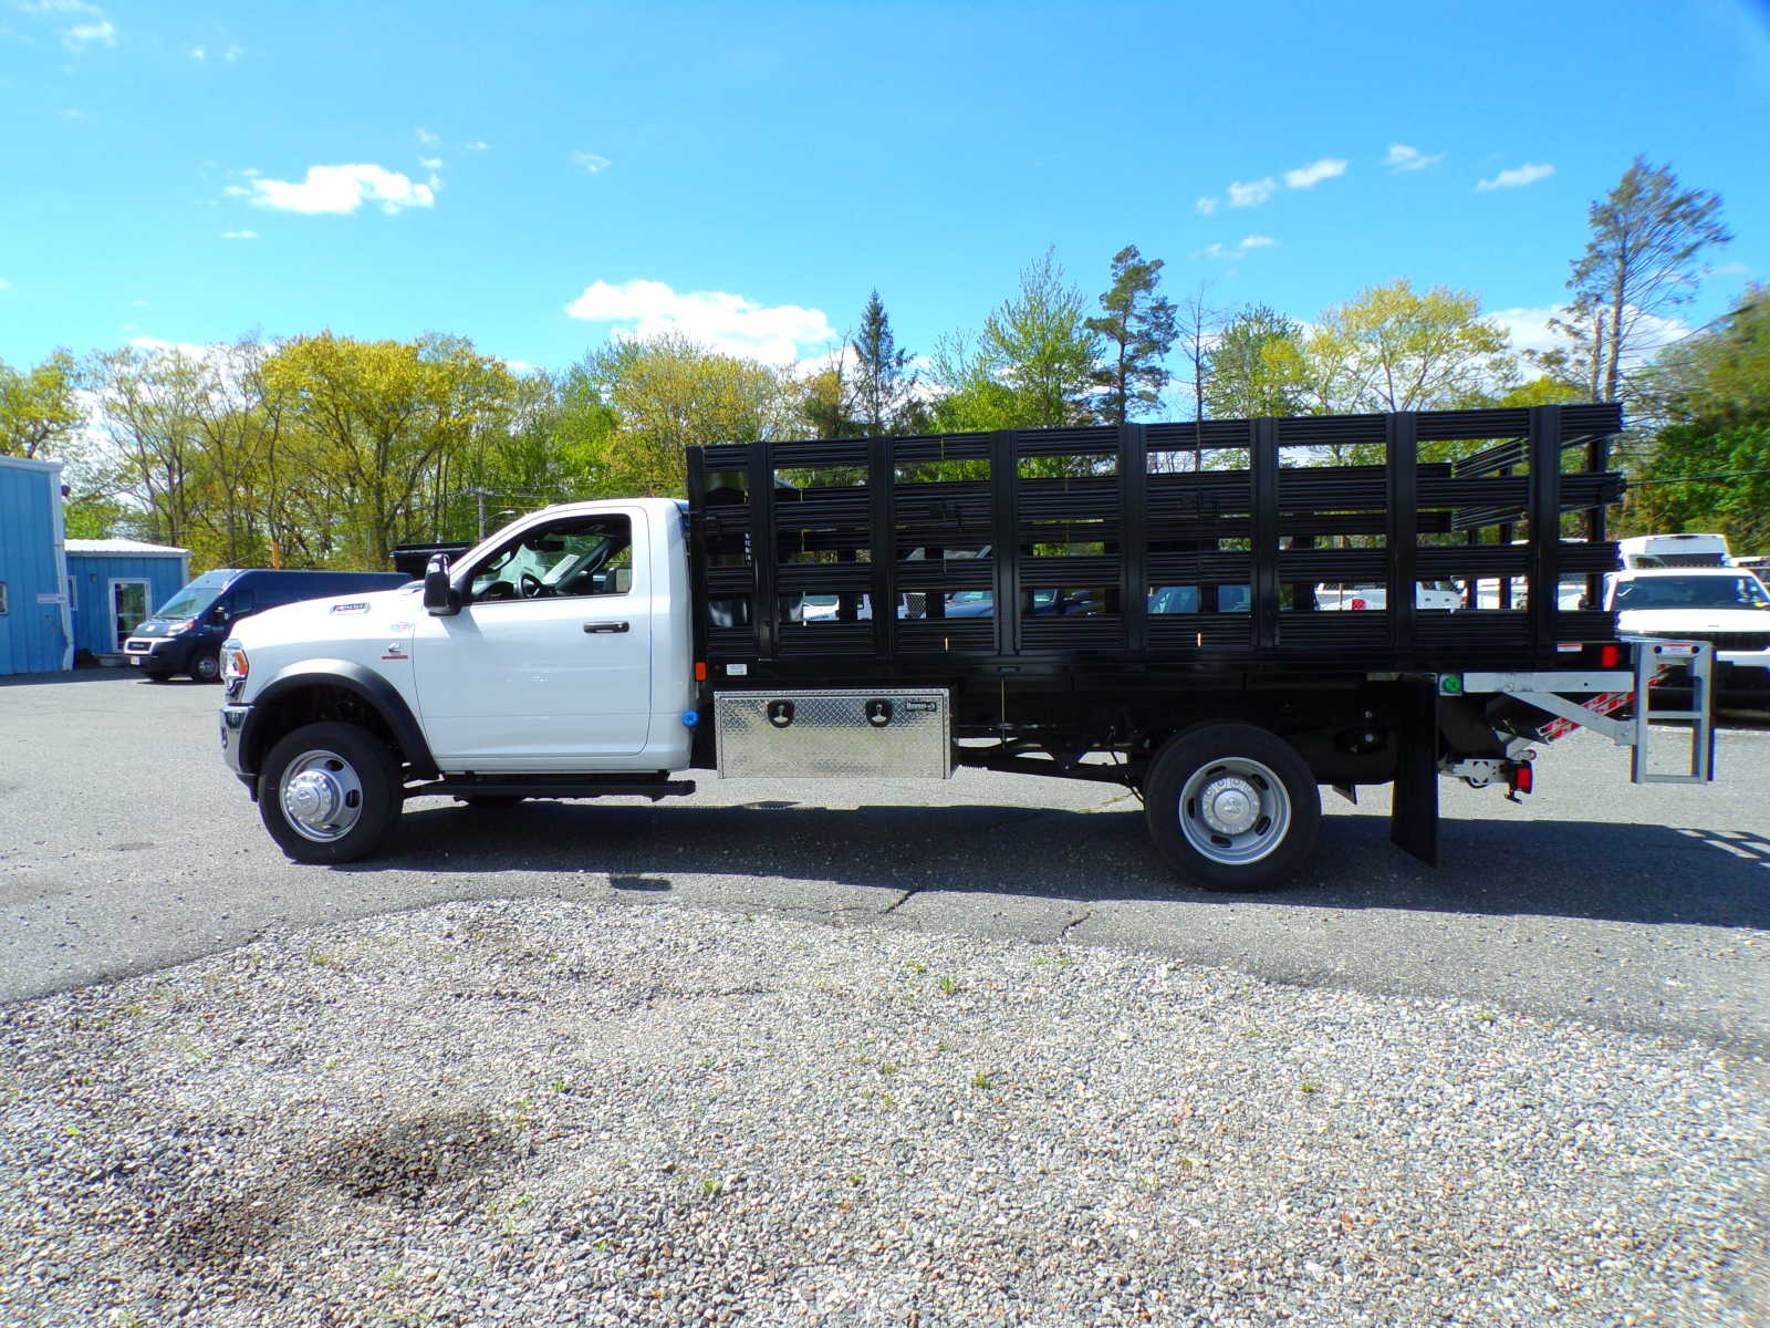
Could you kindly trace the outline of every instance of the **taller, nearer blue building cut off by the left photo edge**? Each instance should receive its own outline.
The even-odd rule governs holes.
[[[74,666],[62,462],[0,457],[0,673]]]

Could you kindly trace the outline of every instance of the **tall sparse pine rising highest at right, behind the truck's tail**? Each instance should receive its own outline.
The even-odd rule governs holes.
[[[1682,188],[1671,166],[1646,158],[1591,205],[1588,225],[1591,239],[1566,282],[1570,317],[1559,326],[1589,367],[1593,395],[1614,402],[1651,342],[1653,319],[1696,296],[1703,255],[1733,235],[1720,223],[1719,195]]]

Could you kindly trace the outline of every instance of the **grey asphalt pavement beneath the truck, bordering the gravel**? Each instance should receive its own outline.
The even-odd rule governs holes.
[[[1591,735],[1543,753],[1522,806],[1446,783],[1439,868],[1389,846],[1386,790],[1358,807],[1328,793],[1313,869],[1235,896],[1168,875],[1124,790],[979,770],[703,774],[699,793],[657,806],[423,799],[382,857],[297,866],[221,767],[219,689],[113,669],[0,683],[0,1000],[444,899],[671,899],[1154,951],[1770,1050],[1761,717],[1729,719],[1706,788],[1632,786],[1627,753]]]

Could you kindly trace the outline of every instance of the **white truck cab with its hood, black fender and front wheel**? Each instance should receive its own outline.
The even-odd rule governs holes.
[[[683,528],[667,499],[550,506],[421,588],[239,623],[221,740],[271,834],[347,861],[412,779],[469,800],[513,797],[510,776],[667,783],[692,742]]]

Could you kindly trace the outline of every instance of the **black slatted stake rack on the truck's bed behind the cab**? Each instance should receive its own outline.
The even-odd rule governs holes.
[[[1584,606],[1618,565],[1620,427],[1547,405],[696,448],[697,657],[796,678],[1549,668],[1616,636]]]

